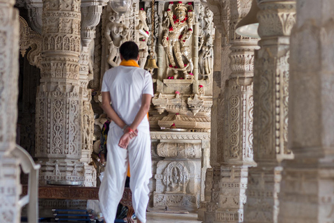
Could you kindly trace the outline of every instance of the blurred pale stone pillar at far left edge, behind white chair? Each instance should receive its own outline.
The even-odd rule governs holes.
[[[0,0],[0,222],[17,223],[21,208],[18,160],[15,148],[17,83],[19,76],[19,17],[13,0]]]

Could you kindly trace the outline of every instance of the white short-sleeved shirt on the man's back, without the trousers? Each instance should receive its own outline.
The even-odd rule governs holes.
[[[104,74],[102,91],[109,91],[111,106],[128,125],[134,121],[141,108],[143,94],[153,96],[152,78],[149,72],[133,66],[118,66]],[[111,127],[116,125],[111,124]],[[138,130],[148,130],[148,118],[138,126]]]

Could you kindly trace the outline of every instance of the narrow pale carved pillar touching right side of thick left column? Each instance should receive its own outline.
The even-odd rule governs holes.
[[[81,54],[80,54],[80,77],[79,82],[82,89],[82,116],[81,116],[81,137],[82,151],[81,162],[84,163],[84,176],[86,187],[96,186],[96,170],[88,165],[91,161],[93,152],[93,134],[94,134],[94,112],[92,108],[91,90],[87,89],[88,82],[93,79],[93,60],[91,59],[93,40],[95,38],[95,26],[99,24],[102,13],[102,6],[106,1],[81,1]]]

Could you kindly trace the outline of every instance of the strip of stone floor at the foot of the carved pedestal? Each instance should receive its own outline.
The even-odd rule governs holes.
[[[146,213],[147,223],[200,223],[197,220],[197,213],[189,214],[166,214],[166,213]]]

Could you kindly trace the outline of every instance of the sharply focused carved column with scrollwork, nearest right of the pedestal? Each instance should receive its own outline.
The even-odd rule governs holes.
[[[250,1],[230,1],[228,34],[231,74],[225,85],[225,148],[214,222],[243,222],[248,167],[253,161],[253,61],[257,39],[235,33]]]

